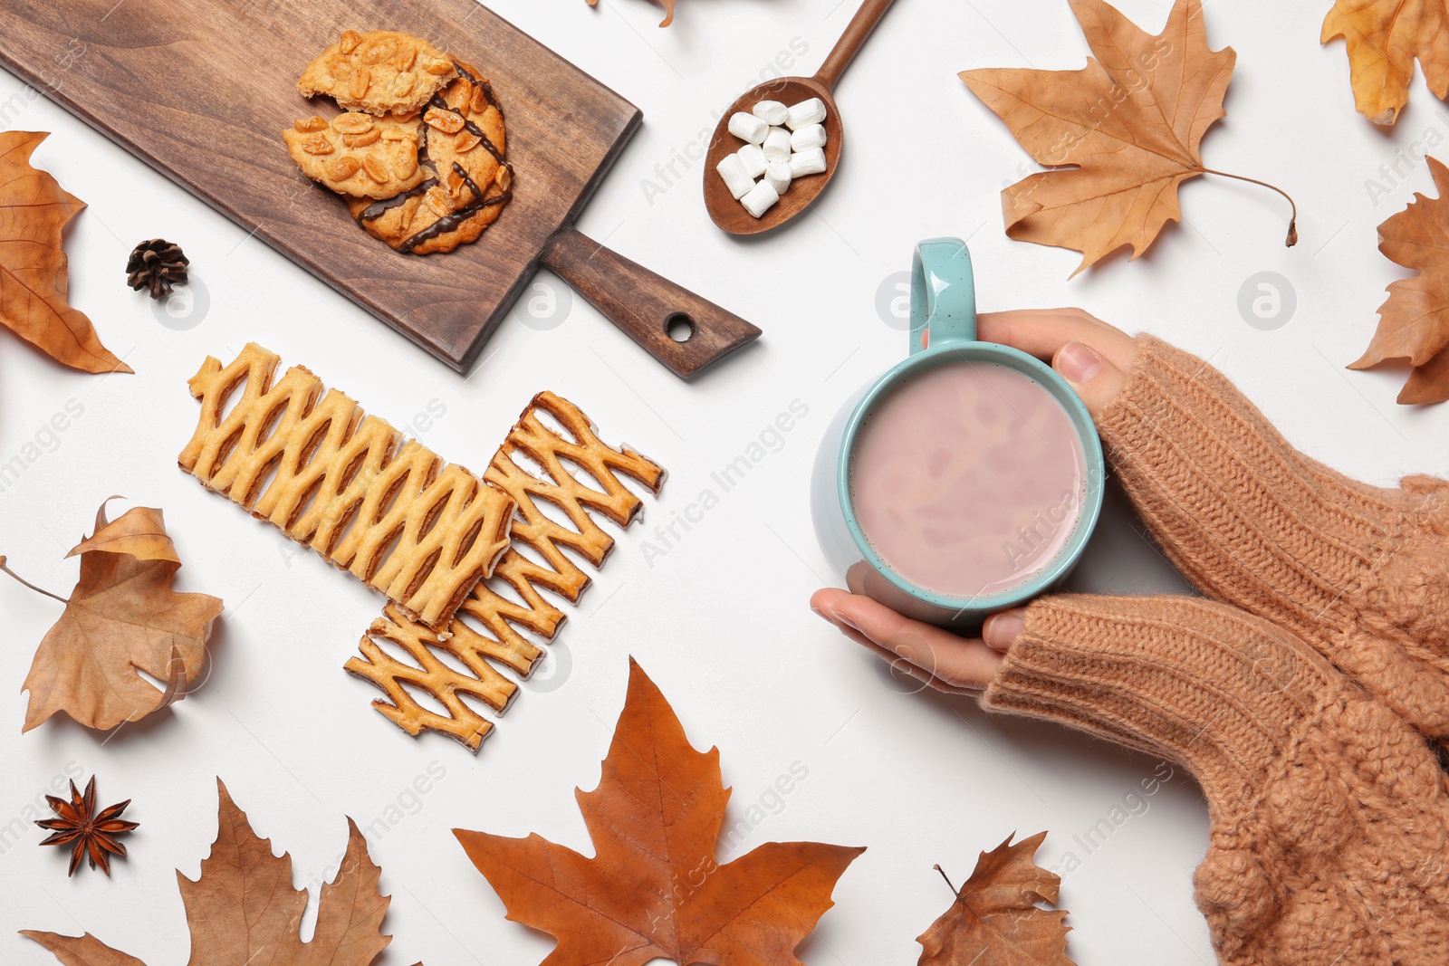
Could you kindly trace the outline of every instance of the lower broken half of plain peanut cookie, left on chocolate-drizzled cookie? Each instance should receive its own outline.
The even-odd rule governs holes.
[[[358,112],[293,122],[281,132],[301,172],[338,194],[391,198],[429,172],[417,164],[423,122],[417,114],[374,117]]]

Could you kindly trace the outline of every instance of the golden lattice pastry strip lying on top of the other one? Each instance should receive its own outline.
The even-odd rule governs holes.
[[[448,627],[509,546],[513,498],[338,390],[248,343],[227,365],[207,356],[181,469],[310,546],[406,614]],[[222,417],[241,390],[235,407]]]

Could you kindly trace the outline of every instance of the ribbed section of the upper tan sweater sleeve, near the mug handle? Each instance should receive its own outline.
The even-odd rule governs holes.
[[[1194,355],[1139,336],[1127,385],[1097,417],[1117,478],[1204,594],[1324,639],[1390,539],[1397,491],[1297,452]]]

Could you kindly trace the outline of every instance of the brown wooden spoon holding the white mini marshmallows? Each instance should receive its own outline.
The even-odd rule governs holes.
[[[714,127],[714,138],[710,140],[710,151],[704,158],[704,207],[709,209],[710,219],[716,224],[730,235],[759,235],[761,232],[768,232],[804,211],[824,191],[824,185],[830,184],[830,178],[835,177],[835,171],[840,164],[840,148],[845,140],[845,132],[840,126],[840,110],[835,106],[832,91],[840,80],[840,74],[855,59],[856,51],[865,43],[865,38],[871,36],[871,30],[881,22],[885,10],[893,3],[895,0],[865,0],[861,9],[855,12],[855,16],[851,17],[845,33],[840,35],[839,42],[836,42],[830,55],[824,58],[824,64],[820,65],[814,77],[781,77],[765,81],[745,91],[724,112],[719,126]],[[740,110],[748,114],[762,100],[798,104],[811,97],[819,97],[824,101],[824,172],[806,175],[791,182],[790,190],[780,197],[775,207],[765,211],[764,217],[756,219],[745,210],[745,206],[735,200],[729,188],[724,187],[724,180],[714,169],[724,155],[739,151],[743,143],[739,138],[729,133],[730,114]]]

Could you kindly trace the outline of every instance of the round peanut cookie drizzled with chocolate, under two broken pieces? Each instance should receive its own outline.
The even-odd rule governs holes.
[[[394,198],[349,201],[368,233],[401,252],[451,252],[477,240],[513,196],[503,109],[493,85],[455,61],[458,78],[423,113],[426,181]]]

